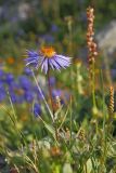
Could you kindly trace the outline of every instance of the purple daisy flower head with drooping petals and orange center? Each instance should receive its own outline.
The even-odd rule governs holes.
[[[70,65],[70,58],[68,56],[63,56],[56,54],[53,48],[41,48],[37,53],[35,51],[27,52],[26,66],[33,65],[36,68],[41,67],[44,74],[48,72],[49,68],[61,70],[61,68],[66,68]]]

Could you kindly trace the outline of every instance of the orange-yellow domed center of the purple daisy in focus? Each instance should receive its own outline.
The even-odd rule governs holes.
[[[52,46],[42,46],[40,50],[41,54],[48,58],[55,55],[55,50]]]

